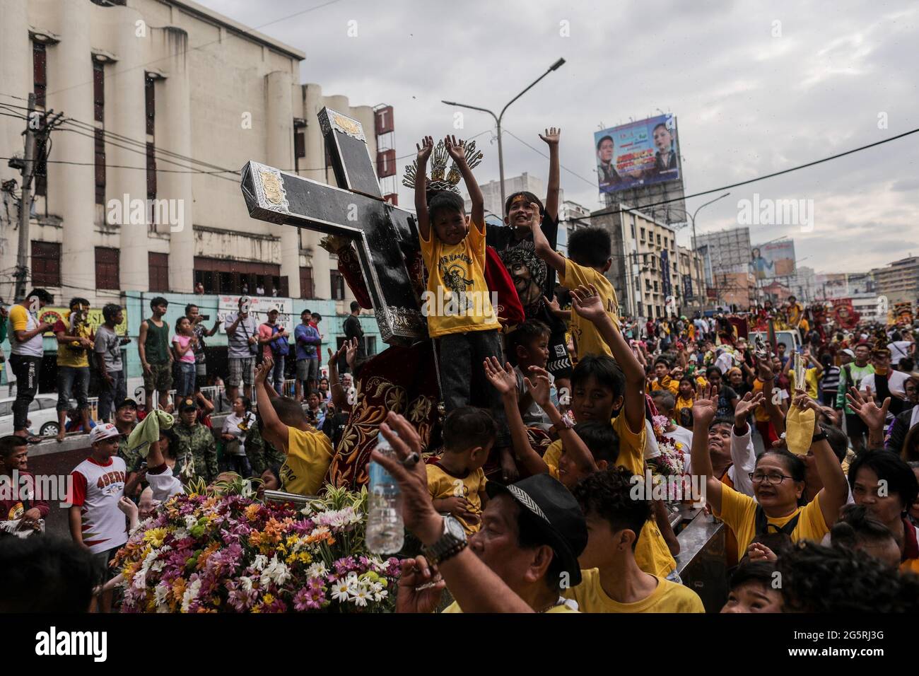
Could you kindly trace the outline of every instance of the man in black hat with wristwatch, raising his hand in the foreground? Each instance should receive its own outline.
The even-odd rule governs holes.
[[[581,582],[577,557],[587,528],[568,489],[545,474],[507,487],[488,484],[482,529],[467,541],[459,521],[434,510],[417,432],[395,413],[387,422],[380,434],[397,458],[374,452],[373,460],[399,483],[405,526],[425,555],[403,561],[397,610],[430,613],[448,586],[456,602],[445,613],[574,612],[560,590]]]

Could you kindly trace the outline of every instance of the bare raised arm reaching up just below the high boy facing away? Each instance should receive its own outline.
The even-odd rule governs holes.
[[[644,368],[629,347],[629,343],[619,333],[603,307],[596,286],[579,286],[572,290],[572,305],[578,315],[594,324],[600,336],[613,352],[613,359],[626,377],[625,415],[629,429],[641,434],[644,429]],[[707,432],[708,433],[708,432]]]

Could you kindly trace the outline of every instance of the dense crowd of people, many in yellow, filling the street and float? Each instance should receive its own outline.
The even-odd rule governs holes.
[[[641,323],[620,315],[605,276],[608,233],[581,228],[567,256],[555,250],[561,131],[540,137],[550,154],[545,201],[510,195],[505,227],[487,231],[471,171],[477,157],[452,137],[437,152],[431,137],[417,146],[425,291],[448,301],[426,316],[443,408],[437,430],[423,435],[394,397],[385,421],[361,432],[391,445],[394,453],[374,452],[372,460],[398,482],[405,527],[420,543],[403,552],[397,610],[704,612],[678,573],[671,518],[676,506],[699,502],[726,532],[730,595],[722,612],[916,610],[913,327],[835,327],[808,319],[794,299],[746,316]],[[471,196],[469,214],[459,178]],[[522,309],[513,324],[503,314],[512,305],[508,294]],[[41,302],[39,292],[35,297]],[[189,305],[170,336],[165,299],[151,302],[138,339],[145,410],[113,392],[113,421],[92,428],[90,456],[74,469],[71,533],[100,563],[127,540],[135,502],[155,509],[196,477],[212,483],[233,471],[259,478],[265,489],[323,489],[382,355],[361,352],[351,322],[354,335],[328,352],[323,390],[320,317],[304,312],[289,334],[278,327],[277,309],[258,326],[247,300],[223,319],[233,410],[216,435],[208,429],[212,402],[195,383],[204,338],[217,325],[204,327]],[[82,299],[74,302],[82,308]],[[22,307],[11,315],[19,345],[45,328]],[[80,344],[106,356],[100,372],[113,388],[123,382],[113,375],[120,362],[108,359],[120,342],[108,335],[116,309],[104,309],[108,330],[96,332],[95,348],[66,324],[55,327],[62,349]],[[352,317],[358,312],[353,305]],[[776,330],[793,331],[794,344],[769,338]],[[295,396],[279,391],[289,338]],[[32,362],[24,355],[17,361],[17,373],[28,377]],[[169,390],[173,361],[181,373],[175,405],[153,397]],[[64,384],[82,383],[68,377]],[[176,425],[149,439],[142,457],[132,436],[147,434],[147,418],[173,406]],[[0,471],[7,473],[28,468],[24,419],[17,420],[18,436],[0,440]],[[659,498],[651,489],[660,479],[700,490]],[[38,505],[19,509],[29,522],[42,516]],[[445,590],[452,601],[446,607]]]

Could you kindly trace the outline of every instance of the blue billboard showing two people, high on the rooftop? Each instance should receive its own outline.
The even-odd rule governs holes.
[[[673,115],[658,115],[595,132],[594,146],[600,192],[619,192],[680,178]]]

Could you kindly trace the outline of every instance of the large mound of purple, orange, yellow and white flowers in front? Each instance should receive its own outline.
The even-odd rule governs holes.
[[[116,556],[122,613],[392,610],[399,562],[366,550],[366,490],[326,487],[302,508],[263,504],[243,480],[189,490]]]

